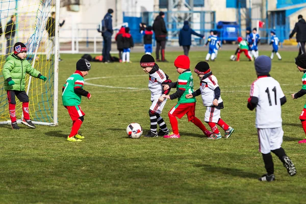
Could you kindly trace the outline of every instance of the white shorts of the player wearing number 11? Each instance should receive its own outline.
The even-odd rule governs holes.
[[[257,132],[259,152],[268,154],[271,150],[281,148],[284,136],[282,127],[257,129]]]

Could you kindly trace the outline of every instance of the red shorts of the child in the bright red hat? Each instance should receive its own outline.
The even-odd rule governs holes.
[[[193,120],[195,115],[195,103],[188,104],[176,104],[168,114],[171,114],[175,117],[182,118],[185,114],[187,114],[188,121]]]

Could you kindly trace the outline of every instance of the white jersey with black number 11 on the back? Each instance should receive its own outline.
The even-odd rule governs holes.
[[[260,129],[282,127],[281,98],[285,96],[281,85],[272,77],[258,77],[251,85],[250,97],[257,97],[256,127]]]

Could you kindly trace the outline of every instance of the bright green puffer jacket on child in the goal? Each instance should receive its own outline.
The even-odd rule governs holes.
[[[39,78],[40,72],[34,69],[27,59],[21,60],[14,54],[11,54],[3,66],[2,74],[4,77],[4,89],[5,90],[15,90],[24,91],[25,88],[25,73],[30,74],[32,77]],[[7,79],[12,78],[15,82],[13,86],[8,85]]]

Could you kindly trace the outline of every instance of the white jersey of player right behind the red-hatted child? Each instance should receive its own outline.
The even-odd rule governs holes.
[[[213,100],[215,99],[215,89],[219,87],[218,80],[214,75],[202,79],[200,81],[200,91],[204,106],[214,106]],[[218,99],[218,104],[222,103],[221,96]]]

